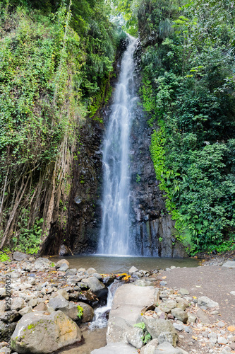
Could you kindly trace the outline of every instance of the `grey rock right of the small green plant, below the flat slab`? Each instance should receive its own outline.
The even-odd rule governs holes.
[[[152,339],[159,339],[162,332],[166,332],[167,338],[171,340],[171,344],[176,346],[178,336],[173,324],[168,319],[153,319],[149,316],[143,316],[143,322],[145,323],[147,331],[151,334]],[[170,336],[171,333],[171,336]]]

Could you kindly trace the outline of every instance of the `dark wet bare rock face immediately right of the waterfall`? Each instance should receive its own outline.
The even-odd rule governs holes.
[[[137,82],[138,85],[138,82]],[[183,257],[183,246],[174,236],[174,222],[167,213],[150,157],[152,127],[141,105],[135,111],[131,132],[131,238],[135,253],[143,256]]]

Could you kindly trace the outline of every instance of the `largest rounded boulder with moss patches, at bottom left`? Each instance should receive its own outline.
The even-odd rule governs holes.
[[[47,354],[81,341],[80,329],[61,311],[25,314],[11,336],[17,353]]]

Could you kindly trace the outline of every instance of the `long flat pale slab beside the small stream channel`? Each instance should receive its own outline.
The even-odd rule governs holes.
[[[143,308],[157,305],[157,299],[159,291],[155,287],[138,287],[133,283],[119,287],[109,314],[107,343],[127,343],[128,329],[136,323]]]

